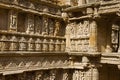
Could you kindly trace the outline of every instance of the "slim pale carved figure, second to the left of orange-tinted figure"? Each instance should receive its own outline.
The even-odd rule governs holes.
[[[48,35],[49,28],[48,28],[48,18],[43,17],[43,27],[42,27],[42,35]]]

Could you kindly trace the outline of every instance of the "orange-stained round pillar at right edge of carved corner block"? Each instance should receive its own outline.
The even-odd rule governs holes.
[[[96,21],[92,20],[90,23],[90,41],[89,41],[89,52],[97,51],[97,24]]]

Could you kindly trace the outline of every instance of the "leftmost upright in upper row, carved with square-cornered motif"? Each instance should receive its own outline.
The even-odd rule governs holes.
[[[10,10],[8,16],[9,31],[17,31],[17,11]]]

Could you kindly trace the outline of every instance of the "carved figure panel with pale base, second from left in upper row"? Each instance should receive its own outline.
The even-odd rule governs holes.
[[[26,33],[33,34],[34,33],[34,15],[28,14],[26,17]]]

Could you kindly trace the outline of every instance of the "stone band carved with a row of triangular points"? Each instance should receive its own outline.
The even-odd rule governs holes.
[[[4,62],[3,62],[4,61]],[[64,68],[69,64],[67,57],[4,57],[0,59],[0,69],[10,70],[34,70],[48,68]]]

